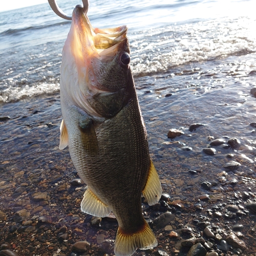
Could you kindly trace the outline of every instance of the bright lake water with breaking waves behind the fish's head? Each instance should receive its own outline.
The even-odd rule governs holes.
[[[71,15],[81,3],[58,4]],[[139,77],[255,52],[255,6],[253,0],[97,0],[88,15],[94,27],[127,25],[132,70]],[[59,90],[61,49],[70,24],[48,4],[1,13],[0,102]],[[251,69],[246,65],[244,72]]]

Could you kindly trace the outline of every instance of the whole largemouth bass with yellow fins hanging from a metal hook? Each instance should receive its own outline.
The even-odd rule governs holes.
[[[127,27],[93,28],[80,5],[62,50],[60,68],[62,150],[87,189],[81,210],[118,222],[115,255],[157,246],[142,214],[141,197],[156,204],[162,194],[150,157],[130,67]]]

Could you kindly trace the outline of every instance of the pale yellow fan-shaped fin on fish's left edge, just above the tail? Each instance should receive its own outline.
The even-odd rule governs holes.
[[[97,217],[106,217],[111,213],[110,207],[98,199],[90,188],[87,188],[83,194],[81,210]]]

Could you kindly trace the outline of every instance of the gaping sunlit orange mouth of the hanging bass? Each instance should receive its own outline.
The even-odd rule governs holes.
[[[93,28],[88,16],[83,13],[83,8],[77,5],[72,14],[72,24],[74,23],[80,40],[80,50],[86,54],[87,58],[97,57],[100,60],[114,57],[117,52],[127,45],[127,27],[98,29]]]

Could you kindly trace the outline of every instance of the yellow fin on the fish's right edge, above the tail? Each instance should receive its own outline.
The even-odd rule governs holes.
[[[149,205],[156,204],[162,195],[162,187],[157,170],[151,160],[150,172],[148,173],[146,185],[142,194]]]

